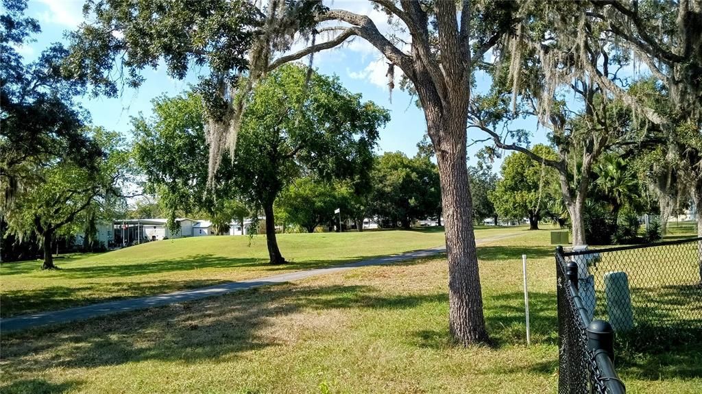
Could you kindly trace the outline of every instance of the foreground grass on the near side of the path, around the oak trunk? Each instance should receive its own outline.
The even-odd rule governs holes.
[[[479,246],[492,346],[451,344],[446,261],[423,259],[4,334],[0,392],[553,393],[548,240],[548,231],[529,231]],[[628,393],[702,392],[701,346],[629,355],[616,365]]]

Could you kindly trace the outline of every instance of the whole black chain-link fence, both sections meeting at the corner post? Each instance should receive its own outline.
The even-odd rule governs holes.
[[[611,327],[617,346],[642,351],[702,340],[702,238],[570,252],[559,247],[556,262],[559,393],[623,392],[611,363],[614,335],[611,349],[598,354],[595,322]],[[607,387],[613,381],[616,387]]]

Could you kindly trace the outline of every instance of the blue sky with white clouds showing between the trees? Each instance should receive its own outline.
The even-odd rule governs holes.
[[[37,35],[34,43],[24,48],[18,48],[25,60],[36,57],[49,43],[62,41],[63,34],[69,29],[75,29],[83,20],[81,7],[83,0],[30,0],[27,15],[37,18],[42,32]],[[366,1],[340,1],[329,4],[332,8],[344,8],[357,13],[371,16],[381,32],[388,31],[387,17],[373,10]],[[385,71],[387,65],[377,50],[368,43],[356,39],[347,43],[343,48],[319,53],[314,57],[314,66],[322,74],[335,74],[343,85],[353,93],[362,93],[364,100],[372,100],[390,111],[392,120],[380,131],[378,151],[403,151],[412,156],[416,153],[416,143],[422,139],[426,125],[422,111],[415,107],[413,98],[396,88],[392,93],[392,102],[388,94]],[[396,76],[399,74],[396,69]],[[82,103],[91,112],[93,123],[131,137],[131,116],[140,112],[151,113],[150,101],[159,95],[177,95],[187,90],[189,83],[197,81],[197,72],[192,72],[187,79],[177,81],[166,75],[164,67],[145,69],[143,75],[146,82],[138,90],[125,89],[120,97],[84,97]],[[399,86],[396,79],[396,85]],[[478,78],[479,88],[487,88],[489,81]],[[534,142],[543,142],[543,129],[537,130],[536,120],[524,121],[522,128],[534,130]],[[470,140],[484,138],[482,133],[472,132]],[[481,147],[476,144],[469,148],[469,163],[475,164],[472,158],[475,151]],[[498,161],[499,163],[499,161]],[[498,164],[496,163],[496,164]],[[496,166],[497,167],[497,166]],[[496,168],[497,169],[497,168]]]

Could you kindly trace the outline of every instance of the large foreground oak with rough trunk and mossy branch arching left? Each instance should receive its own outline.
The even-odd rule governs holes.
[[[206,64],[204,78],[211,172],[229,147],[234,151],[244,100],[261,76],[281,64],[339,46],[352,37],[371,43],[390,67],[402,70],[420,101],[435,147],[449,262],[449,327],[461,344],[488,336],[482,308],[472,202],[466,168],[466,121],[470,80],[476,60],[509,32],[517,3],[512,1],[373,0],[409,34],[400,48],[366,15],[328,9],[321,1],[270,0],[258,9],[247,1],[96,0],[86,11],[91,22],[72,36],[74,56],[67,69],[98,91],[115,94],[114,69],[138,86],[144,67],[164,60],[171,75],[183,78],[192,64]],[[335,34],[317,42],[320,33]],[[289,53],[292,38],[310,46]],[[321,40],[320,40],[321,41]],[[283,53],[283,55],[280,55]],[[239,78],[241,73],[248,77]],[[392,81],[390,82],[392,86]]]

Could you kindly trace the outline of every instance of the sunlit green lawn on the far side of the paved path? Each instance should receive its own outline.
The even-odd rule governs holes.
[[[479,227],[479,238],[525,227]],[[0,315],[48,311],[329,266],[444,244],[441,228],[417,231],[279,234],[289,264],[268,264],[265,236],[211,236],[162,240],[104,254],[56,259],[60,271],[39,261],[0,265]]]

